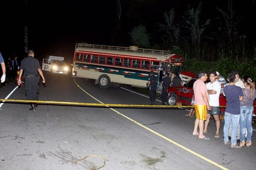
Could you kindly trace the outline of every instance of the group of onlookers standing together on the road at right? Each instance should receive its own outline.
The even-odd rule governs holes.
[[[195,113],[193,135],[200,139],[209,139],[204,134],[207,133],[209,119],[212,115],[216,127],[215,137],[219,138],[219,96],[223,93],[227,100],[224,113],[224,144],[227,145],[231,142],[232,148],[241,148],[244,145],[250,147],[253,133],[253,102],[256,99],[255,82],[252,77],[245,76],[241,79],[238,71],[231,71],[228,74],[227,83],[217,71],[211,71],[209,72],[210,82],[205,84],[207,78],[207,73],[201,71],[198,73],[198,80],[193,85],[192,103],[194,108],[187,115],[193,116]],[[230,142],[229,137],[231,138]],[[238,143],[237,138],[239,138]]]

